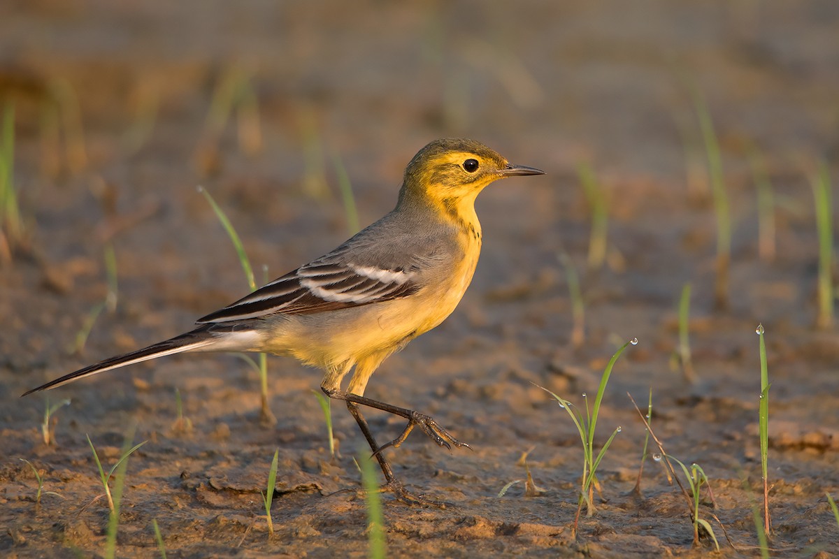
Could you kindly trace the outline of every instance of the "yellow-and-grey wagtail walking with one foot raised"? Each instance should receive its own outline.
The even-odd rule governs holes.
[[[545,172],[508,163],[474,140],[430,142],[405,168],[396,207],[335,250],[199,318],[185,334],[102,360],[23,396],[165,355],[289,355],[325,371],[320,388],[346,403],[382,470],[383,489],[406,503],[428,504],[404,488],[383,451],[398,448],[415,427],[442,448],[471,447],[424,413],[364,396],[367,381],[383,360],[442,323],[460,303],[482,246],[477,194],[498,179],[539,174]],[[407,424],[399,437],[379,445],[361,406]]]

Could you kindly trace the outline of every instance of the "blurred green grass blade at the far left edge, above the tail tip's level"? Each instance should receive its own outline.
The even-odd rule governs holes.
[[[14,106],[3,108],[0,123],[0,256],[10,260],[12,250],[23,240],[23,220],[14,188]]]

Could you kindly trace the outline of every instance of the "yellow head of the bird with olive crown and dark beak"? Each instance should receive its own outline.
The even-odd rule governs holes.
[[[529,174],[545,172],[524,165],[511,165],[481,142],[435,140],[420,149],[405,168],[399,204],[422,201],[460,220],[472,221],[475,198],[487,184]]]

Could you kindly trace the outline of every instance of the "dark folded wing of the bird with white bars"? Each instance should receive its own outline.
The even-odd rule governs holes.
[[[278,313],[323,313],[408,297],[419,289],[414,282],[416,272],[403,267],[353,263],[347,261],[348,255],[341,248],[196,323],[228,322]]]

